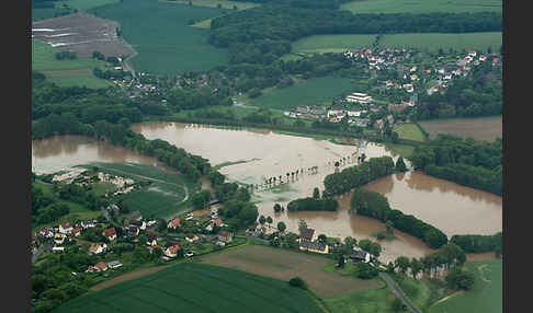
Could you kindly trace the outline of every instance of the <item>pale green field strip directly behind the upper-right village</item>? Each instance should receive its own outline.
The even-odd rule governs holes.
[[[285,59],[302,54],[343,53],[359,47],[371,47],[376,35],[315,35],[299,39],[293,44],[292,54]],[[479,49],[486,51],[489,47],[496,51],[502,44],[501,32],[464,33],[464,34],[392,34],[384,35],[378,46],[382,48],[417,48],[431,53],[454,49]]]

